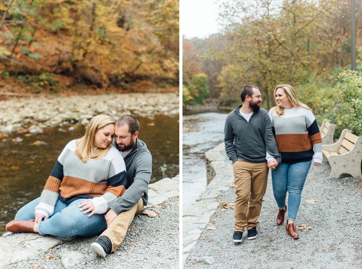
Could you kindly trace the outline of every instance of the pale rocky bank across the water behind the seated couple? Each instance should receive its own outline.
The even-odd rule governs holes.
[[[80,122],[97,114],[117,119],[123,114],[153,117],[179,114],[177,93],[127,93],[39,96],[0,101],[0,133],[42,133],[52,126]]]

